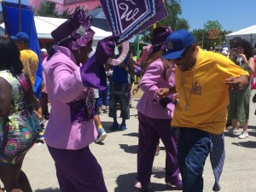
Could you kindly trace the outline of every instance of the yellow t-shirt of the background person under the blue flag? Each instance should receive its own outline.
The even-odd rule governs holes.
[[[39,62],[38,55],[30,49],[20,50],[20,61],[23,64],[23,71],[28,75],[34,87]]]

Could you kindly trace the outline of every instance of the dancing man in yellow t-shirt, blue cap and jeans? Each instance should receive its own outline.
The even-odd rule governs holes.
[[[223,137],[224,134],[228,90],[245,88],[248,73],[224,55],[197,47],[193,35],[185,30],[169,35],[166,48],[164,59],[176,64],[179,102],[174,111],[172,127],[181,131],[177,159],[183,191],[202,192],[202,173],[212,149],[211,135]],[[160,89],[159,96],[166,96],[166,90]]]

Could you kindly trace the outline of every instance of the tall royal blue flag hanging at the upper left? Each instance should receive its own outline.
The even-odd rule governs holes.
[[[34,21],[34,14],[32,7],[20,4],[20,14],[19,14],[19,4],[3,2],[3,20],[5,26],[5,33],[10,36],[15,36],[19,32],[19,15],[20,15],[20,32],[26,32],[30,37],[29,49],[32,49],[39,59],[38,69],[36,72],[36,81],[34,84],[34,94],[38,98],[41,95],[41,83],[43,80],[43,68],[41,61],[40,46],[38,43],[38,34]]]

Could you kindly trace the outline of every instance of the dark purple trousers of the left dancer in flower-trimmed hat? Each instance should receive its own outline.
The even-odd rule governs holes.
[[[62,192],[107,192],[102,168],[89,146],[79,150],[51,148]]]

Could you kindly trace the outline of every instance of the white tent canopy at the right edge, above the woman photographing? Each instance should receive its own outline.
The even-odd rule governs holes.
[[[231,32],[225,36],[227,43],[230,43],[230,40],[236,37],[246,39],[251,42],[253,45],[256,43],[256,25],[249,26],[247,28],[241,29],[237,32]]]

